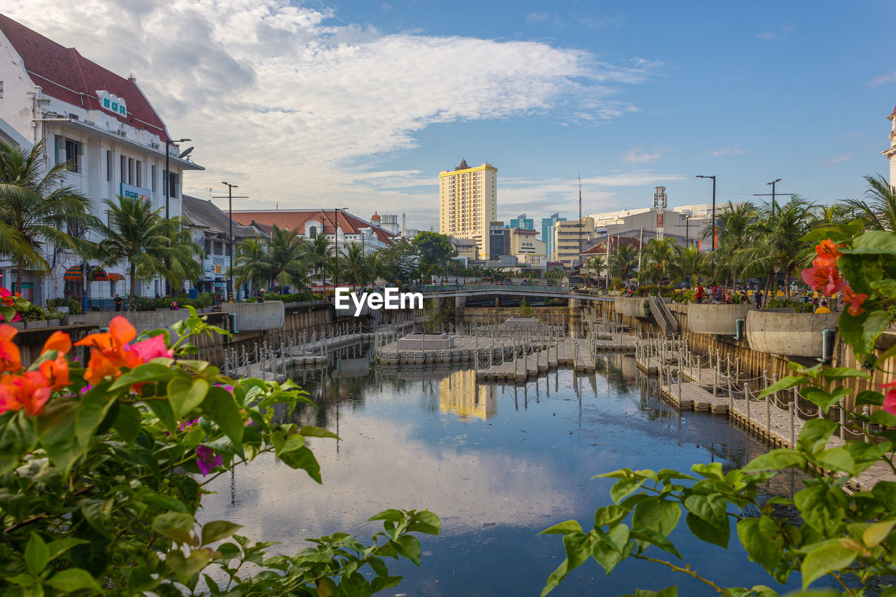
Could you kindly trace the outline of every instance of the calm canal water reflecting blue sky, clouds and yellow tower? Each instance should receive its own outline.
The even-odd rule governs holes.
[[[728,469],[767,450],[724,416],[675,411],[631,356],[598,362],[592,375],[561,370],[514,386],[480,383],[470,369],[367,368],[344,359],[306,379],[319,408],[291,415],[341,437],[311,442],[323,486],[263,456],[215,481],[202,519],[241,523],[253,540],[280,541],[278,549],[294,553],[305,538],[332,532],[369,539],[382,527],[366,519],[385,508],[428,508],[441,517],[442,534],[420,536],[421,567],[391,563],[404,581],[380,594],[538,595],[564,558],[560,538],[538,532],[568,519],[593,524],[594,510],[611,503],[613,482],[595,474],[711,462]],[[792,494],[801,486],[781,474],[768,490]],[[694,570],[722,586],[798,588],[798,575],[776,586],[747,560],[733,529],[731,537],[729,550],[694,540],[683,517],[670,538]],[[591,560],[552,594],[613,596],[673,584],[683,596],[715,594],[634,560],[608,577]]]

